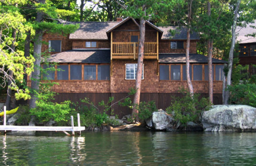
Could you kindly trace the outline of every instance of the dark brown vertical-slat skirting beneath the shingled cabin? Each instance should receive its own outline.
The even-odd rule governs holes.
[[[108,101],[108,98],[113,96],[114,102],[117,102],[124,97],[128,96],[128,93],[59,93],[55,96],[54,102],[64,102],[65,100],[70,100],[72,102],[78,102],[79,106],[86,105],[83,102],[81,102],[81,99],[89,98],[91,102],[93,102],[97,107],[99,107],[98,103],[104,100],[105,102]],[[156,108],[157,109],[163,109],[166,110],[167,107],[171,105],[172,102],[174,102],[175,98],[180,98],[183,95],[180,93],[141,93],[140,94],[140,102],[149,102],[149,101],[155,101]],[[133,100],[133,96],[129,96]],[[200,94],[200,98],[202,97],[208,97],[208,94]],[[122,100],[123,101],[123,100]],[[221,94],[213,94],[213,103],[221,104],[222,101],[222,95]],[[87,105],[89,106],[89,105]],[[103,108],[99,107],[100,110],[103,110]],[[112,106],[112,109],[114,110],[114,114],[112,115],[118,115],[119,118],[122,118],[125,115],[132,114],[132,109],[128,107],[123,107],[118,104],[115,104]],[[107,112],[108,115],[110,114],[110,111]]]

